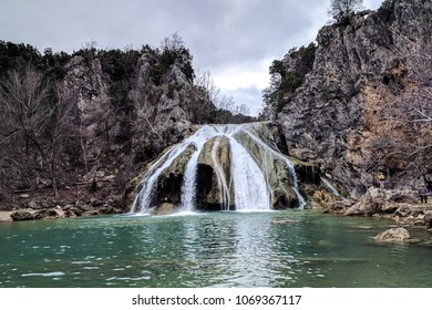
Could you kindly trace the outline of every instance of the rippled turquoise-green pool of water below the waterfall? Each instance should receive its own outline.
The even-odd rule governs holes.
[[[390,226],[316,210],[2,223],[0,287],[432,287],[432,246],[377,244]]]

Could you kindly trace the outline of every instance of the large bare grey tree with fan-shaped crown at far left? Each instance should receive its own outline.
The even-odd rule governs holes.
[[[55,158],[62,125],[70,106],[56,89],[50,96],[50,84],[40,72],[28,65],[22,72],[11,71],[0,86],[0,112],[8,120],[9,136],[22,136],[25,152],[34,148],[50,175],[53,194],[58,196]],[[18,145],[18,144],[17,144]]]

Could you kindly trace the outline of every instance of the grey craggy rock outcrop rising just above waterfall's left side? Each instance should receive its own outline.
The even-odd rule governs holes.
[[[128,99],[135,111],[135,152],[147,147],[148,151],[144,152],[157,154],[193,133],[191,103],[198,101],[199,95],[193,91],[192,81],[178,65],[173,65],[163,83],[156,85],[152,81],[153,61],[148,54],[140,58]]]

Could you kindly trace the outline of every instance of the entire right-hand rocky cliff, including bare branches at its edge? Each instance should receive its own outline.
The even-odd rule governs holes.
[[[388,0],[323,27],[311,70],[276,116],[289,154],[356,198],[378,170],[387,186],[422,182],[432,172],[431,24],[431,1]],[[295,70],[290,53],[282,63]]]

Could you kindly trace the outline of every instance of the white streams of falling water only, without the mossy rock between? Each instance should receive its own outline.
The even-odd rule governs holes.
[[[174,161],[181,156],[188,147],[195,148],[191,159],[188,161],[182,185],[181,205],[177,206],[179,211],[194,211],[199,202],[196,202],[196,178],[198,156],[203,151],[206,142],[216,137],[213,149],[212,161],[215,168],[215,176],[218,184],[220,195],[220,209],[229,209],[232,205],[230,193],[234,187],[234,205],[236,210],[268,210],[271,208],[272,189],[269,186],[268,176],[269,168],[267,167],[268,158],[281,161],[289,172],[292,189],[296,193],[299,207],[306,205],[305,198],[298,189],[298,182],[292,162],[281,154],[276,145],[269,146],[261,137],[259,137],[253,128],[253,124],[243,125],[205,125],[200,127],[193,136],[188,137],[181,144],[173,146],[158,161],[156,161],[144,175],[138,185],[137,193],[133,203],[131,213],[147,213],[156,207],[157,202],[157,179],[165,169],[168,169]],[[255,149],[259,149],[260,156],[255,155],[245,145],[240,137],[246,136],[253,143]],[[220,163],[216,156],[219,147],[220,138],[225,137],[229,142],[232,167],[230,175],[225,175]],[[268,141],[272,141],[269,136]],[[267,141],[266,141],[267,142]],[[250,146],[249,146],[250,147]]]

